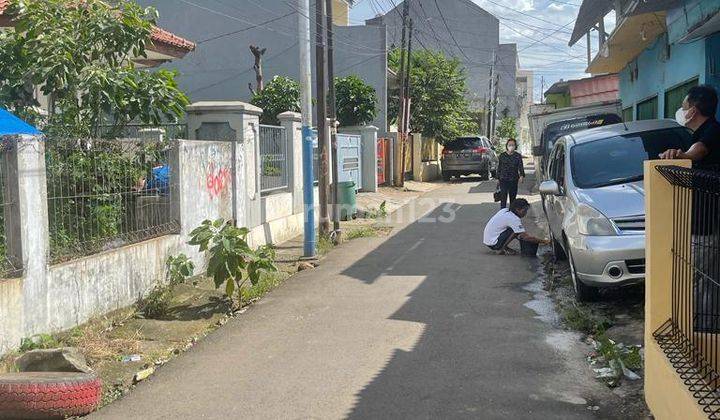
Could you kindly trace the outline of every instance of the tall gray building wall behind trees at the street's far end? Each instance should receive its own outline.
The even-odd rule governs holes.
[[[403,3],[383,16],[367,21],[387,27],[388,47],[400,45]],[[467,72],[467,99],[474,109],[484,108],[489,99],[490,68],[497,54],[500,74],[499,110],[508,107],[517,116],[515,65],[517,51],[500,46],[500,21],[469,0],[413,0],[413,48],[439,50],[459,59]],[[447,26],[446,26],[447,25]],[[448,30],[448,27],[450,30]]]

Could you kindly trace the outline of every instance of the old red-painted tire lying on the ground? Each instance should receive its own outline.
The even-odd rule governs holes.
[[[0,419],[82,416],[100,403],[100,379],[79,372],[22,372],[0,375]]]

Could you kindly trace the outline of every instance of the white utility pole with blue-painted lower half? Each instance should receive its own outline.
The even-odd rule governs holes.
[[[313,180],[312,75],[310,71],[310,0],[298,0],[300,46],[300,102],[302,104],[303,207],[305,208],[303,256],[316,255],[315,193]]]

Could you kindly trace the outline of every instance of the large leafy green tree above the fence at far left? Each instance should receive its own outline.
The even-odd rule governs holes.
[[[112,4],[110,4],[112,3]],[[135,67],[157,13],[134,2],[11,0],[14,31],[0,32],[0,103],[40,123],[35,86],[50,100],[46,131],[92,136],[100,124],[180,117],[175,73]]]

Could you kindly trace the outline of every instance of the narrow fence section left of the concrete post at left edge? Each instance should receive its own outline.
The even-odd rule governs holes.
[[[0,141],[0,277],[17,277],[22,274],[22,256],[19,249],[13,249],[19,242],[19,222],[17,215],[16,195],[12,192],[12,180],[15,175],[9,176],[11,168],[10,159],[13,156],[17,142],[9,137]],[[16,177],[15,177],[16,178]]]

